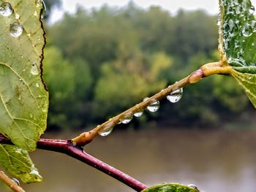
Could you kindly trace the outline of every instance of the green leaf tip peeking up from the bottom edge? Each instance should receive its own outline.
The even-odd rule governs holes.
[[[154,185],[144,189],[142,192],[198,192],[198,190],[178,183],[167,183]]]

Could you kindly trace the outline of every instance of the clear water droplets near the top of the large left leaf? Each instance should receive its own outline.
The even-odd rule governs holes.
[[[36,0],[36,6],[39,7],[41,6],[41,4],[43,4],[43,12],[41,17],[43,18],[43,15],[45,14],[46,11],[46,7],[45,7],[45,2],[42,0]],[[4,16],[4,17],[9,17],[10,15],[12,15],[13,9],[12,9],[12,5],[8,2],[4,2],[3,4],[1,4],[0,6],[0,15]],[[37,16],[37,15],[36,15]],[[17,13],[15,14],[15,18],[17,20],[20,19],[20,15],[18,15]],[[12,23],[10,25],[10,35],[12,35],[12,37],[20,37],[20,35],[23,34],[23,26],[20,22],[15,22]]]

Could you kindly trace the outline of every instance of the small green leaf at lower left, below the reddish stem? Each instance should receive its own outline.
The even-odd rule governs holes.
[[[42,181],[42,177],[29,158],[29,153],[19,147],[0,145],[0,164],[15,177],[20,177],[24,183]]]

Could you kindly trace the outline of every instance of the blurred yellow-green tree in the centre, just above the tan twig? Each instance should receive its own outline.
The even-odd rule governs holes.
[[[172,64],[165,53],[146,56],[136,52],[124,58],[120,53],[119,56],[116,61],[102,66],[102,75],[95,87],[95,115],[113,115],[116,110],[131,107],[151,93],[165,88],[167,81],[161,74]]]

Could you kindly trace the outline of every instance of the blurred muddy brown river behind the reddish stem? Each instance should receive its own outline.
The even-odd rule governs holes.
[[[146,185],[193,183],[208,192],[256,191],[256,131],[252,130],[114,131],[94,140],[86,152]],[[23,185],[28,192],[133,191],[67,155],[37,150],[31,158],[44,182]]]

